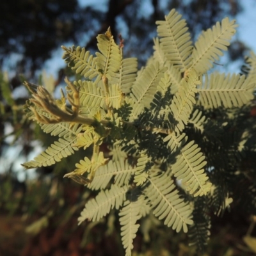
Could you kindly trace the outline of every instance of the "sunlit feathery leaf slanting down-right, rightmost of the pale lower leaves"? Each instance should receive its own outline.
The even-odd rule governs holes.
[[[200,152],[198,145],[194,141],[190,141],[180,150],[177,161],[172,166],[172,173],[178,180],[182,180],[182,184],[186,190],[194,196],[203,196],[211,189],[211,183],[204,172],[205,156]]]

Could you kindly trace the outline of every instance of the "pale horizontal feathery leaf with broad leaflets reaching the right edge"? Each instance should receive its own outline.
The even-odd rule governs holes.
[[[239,74],[206,75],[205,81],[198,86],[199,103],[205,108],[241,107],[253,99],[254,84]]]

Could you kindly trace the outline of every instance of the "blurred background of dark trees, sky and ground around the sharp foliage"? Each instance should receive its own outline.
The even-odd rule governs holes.
[[[0,256],[124,255],[115,214],[99,223],[77,226],[85,200],[93,195],[63,175],[88,152],[79,150],[33,173],[18,167],[54,141],[24,116],[22,106],[29,95],[22,82],[44,84],[56,93],[65,86],[63,77],[76,75],[60,60],[54,63],[56,67],[49,67],[56,74],[48,76],[47,70],[43,72],[45,63],[59,52],[60,45],[81,45],[94,52],[96,36],[109,26],[116,40],[122,34],[125,56],[135,56],[144,65],[152,53],[155,22],[172,8],[184,15],[194,39],[223,17],[236,18],[243,12],[238,0],[0,1]],[[236,37],[227,60],[243,63],[248,51]],[[248,118],[255,117],[255,109],[250,109]],[[244,159],[244,168],[251,173],[255,173],[253,157]],[[255,236],[253,216],[249,219],[231,211],[212,218],[205,255],[256,254],[255,241],[243,240],[246,234]],[[134,255],[190,256],[196,251],[188,246],[188,237],[159,225],[152,216],[141,222]]]

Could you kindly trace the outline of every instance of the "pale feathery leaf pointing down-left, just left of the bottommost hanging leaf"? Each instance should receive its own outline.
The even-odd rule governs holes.
[[[127,186],[119,187],[113,184],[110,189],[100,191],[96,198],[86,203],[81,216],[78,218],[79,225],[84,220],[99,221],[114,207],[118,210],[125,200],[127,190]]]

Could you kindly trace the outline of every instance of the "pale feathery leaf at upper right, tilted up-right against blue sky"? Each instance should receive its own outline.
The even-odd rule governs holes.
[[[212,68],[212,62],[219,60],[219,56],[223,55],[222,51],[227,51],[230,40],[236,33],[236,20],[229,21],[225,18],[217,22],[212,29],[207,29],[199,36],[192,52],[193,65],[198,74],[204,74]]]

